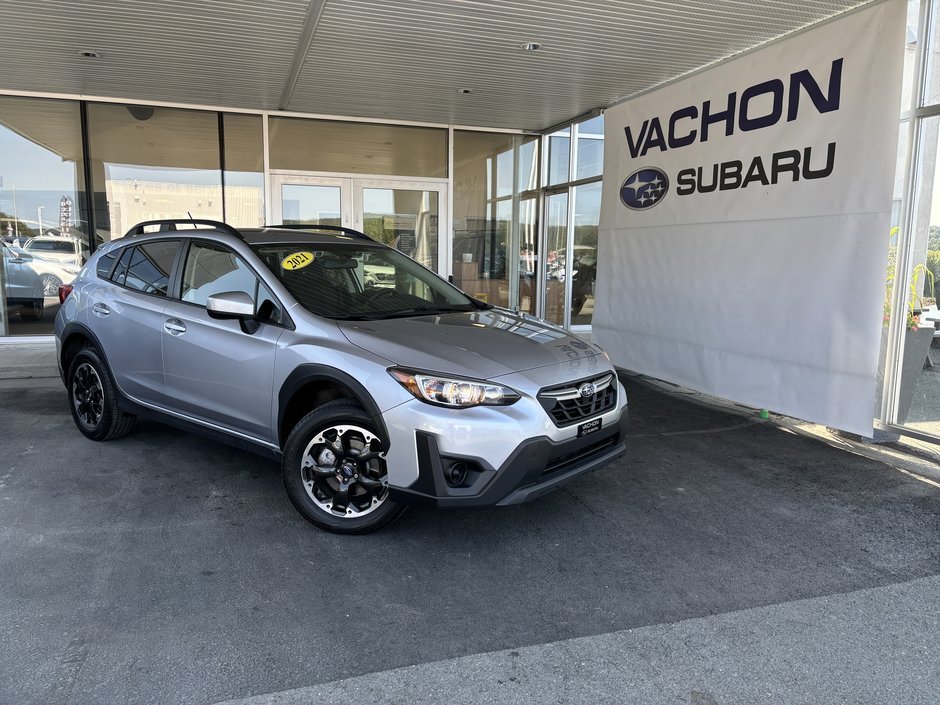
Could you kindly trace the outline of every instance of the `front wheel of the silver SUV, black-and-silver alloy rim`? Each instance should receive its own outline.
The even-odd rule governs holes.
[[[287,496],[303,516],[336,534],[365,534],[404,507],[389,498],[386,439],[352,399],[314,409],[291,430],[281,459]]]

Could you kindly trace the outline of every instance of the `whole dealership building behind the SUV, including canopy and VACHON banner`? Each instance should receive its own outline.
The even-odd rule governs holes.
[[[940,3],[13,0],[3,27],[0,363],[138,222],[343,225],[624,368],[940,442]]]

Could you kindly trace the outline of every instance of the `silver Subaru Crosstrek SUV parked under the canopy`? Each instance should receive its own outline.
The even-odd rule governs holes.
[[[627,398],[598,346],[355,230],[142,223],[61,293],[85,436],[148,415],[279,458],[328,531],[524,502],[624,452]]]

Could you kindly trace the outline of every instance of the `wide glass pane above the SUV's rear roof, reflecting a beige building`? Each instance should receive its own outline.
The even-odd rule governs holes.
[[[217,113],[92,103],[88,141],[105,239],[144,220],[222,219]]]

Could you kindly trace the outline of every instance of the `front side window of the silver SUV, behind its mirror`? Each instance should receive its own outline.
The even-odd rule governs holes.
[[[194,242],[183,267],[182,300],[206,306],[210,296],[228,291],[248,294],[261,320],[281,322],[274,296],[241,257],[220,245]]]

